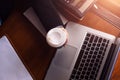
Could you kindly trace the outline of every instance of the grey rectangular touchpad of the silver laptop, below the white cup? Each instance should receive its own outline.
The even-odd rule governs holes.
[[[58,49],[54,58],[55,66],[70,69],[75,58],[76,51],[77,48],[70,45],[65,45],[64,47]]]

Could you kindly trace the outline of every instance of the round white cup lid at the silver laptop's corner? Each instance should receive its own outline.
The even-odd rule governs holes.
[[[61,47],[65,45],[68,39],[68,33],[62,26],[55,27],[48,31],[46,35],[46,40],[48,44],[52,47]]]

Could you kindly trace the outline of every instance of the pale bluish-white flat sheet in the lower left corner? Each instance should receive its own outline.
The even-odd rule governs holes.
[[[6,36],[0,38],[0,80],[33,80]]]

